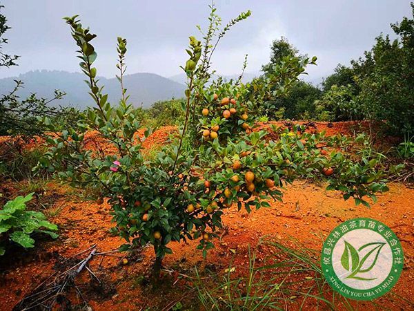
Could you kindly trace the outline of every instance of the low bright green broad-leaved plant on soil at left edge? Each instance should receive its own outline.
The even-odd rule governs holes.
[[[31,248],[34,247],[31,234],[43,233],[57,238],[57,225],[49,223],[39,211],[26,211],[26,202],[32,200],[32,196],[18,196],[0,210],[0,256],[6,252],[9,240],[24,248]]]

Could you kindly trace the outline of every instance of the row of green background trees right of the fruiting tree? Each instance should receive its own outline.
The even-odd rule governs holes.
[[[414,16],[413,3],[411,8]],[[414,20],[404,17],[391,28],[397,39],[378,36],[371,50],[351,60],[350,66],[338,64],[321,86],[295,82],[288,95],[275,97],[268,106],[268,117],[384,121],[391,133],[413,135]],[[273,41],[270,62],[262,67],[264,75],[286,56],[304,57],[286,39]]]

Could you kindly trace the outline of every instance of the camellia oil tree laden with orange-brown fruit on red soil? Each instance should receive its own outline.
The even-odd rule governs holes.
[[[219,40],[250,15],[242,13],[220,31],[221,19],[214,6],[210,9],[204,44],[190,37],[190,57],[182,67],[188,77],[184,124],[172,144],[151,160],[141,154],[144,138],[137,135],[140,124],[123,84],[126,40],[118,39],[121,99],[112,106],[93,66],[97,53],[91,41],[96,35],[77,16],[65,18],[79,47],[81,70],[95,107],[66,131],[59,132],[50,120],[44,120],[55,134],[46,140],[49,149],[39,167],[47,167],[72,186],[95,189],[98,204],[106,198],[116,230],[127,241],[121,249],[153,245],[155,275],[162,258],[172,252],[171,241],[199,239],[198,248],[205,256],[213,247],[211,239],[221,227],[224,209],[233,204],[247,211],[269,207],[268,200],[281,200],[282,186],[295,178],[324,176],[328,189],[339,189],[345,199],[353,197],[364,205],[368,205],[364,196],[375,200],[375,192],[387,189],[384,172],[375,170],[377,160],[348,156],[346,138],[326,138],[295,127],[293,131],[273,129],[271,140],[268,132],[255,130],[258,109],[268,95],[287,92],[290,82],[304,72],[306,64],[315,63],[315,58],[286,59],[249,84],[218,79],[206,86],[211,79],[211,55]],[[95,131],[115,151],[103,154],[86,148],[87,131]],[[331,153],[325,147],[332,147]]]

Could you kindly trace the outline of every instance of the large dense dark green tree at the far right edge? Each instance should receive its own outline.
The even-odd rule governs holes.
[[[414,3],[411,3],[414,17]],[[396,39],[375,38],[364,57],[351,67],[337,66],[324,81],[319,108],[333,120],[375,120],[388,131],[403,136],[413,133],[414,120],[414,19],[404,17],[391,24]]]

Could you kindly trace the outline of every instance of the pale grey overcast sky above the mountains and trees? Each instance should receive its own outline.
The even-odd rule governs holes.
[[[19,66],[2,68],[0,77],[29,70],[79,71],[75,42],[61,19],[79,15],[97,34],[98,74],[116,74],[116,39],[128,39],[128,73],[149,72],[165,77],[181,73],[188,36],[201,35],[195,25],[206,25],[205,0],[3,0],[2,10],[12,29],[4,51],[21,55]],[[403,0],[216,0],[224,23],[239,12],[252,16],[239,23],[221,41],[213,67],[218,73],[239,73],[248,54],[248,72],[268,61],[273,39],[287,37],[301,53],[318,57],[309,68],[312,81],[332,73],[338,63],[362,55],[390,23],[411,15]]]

